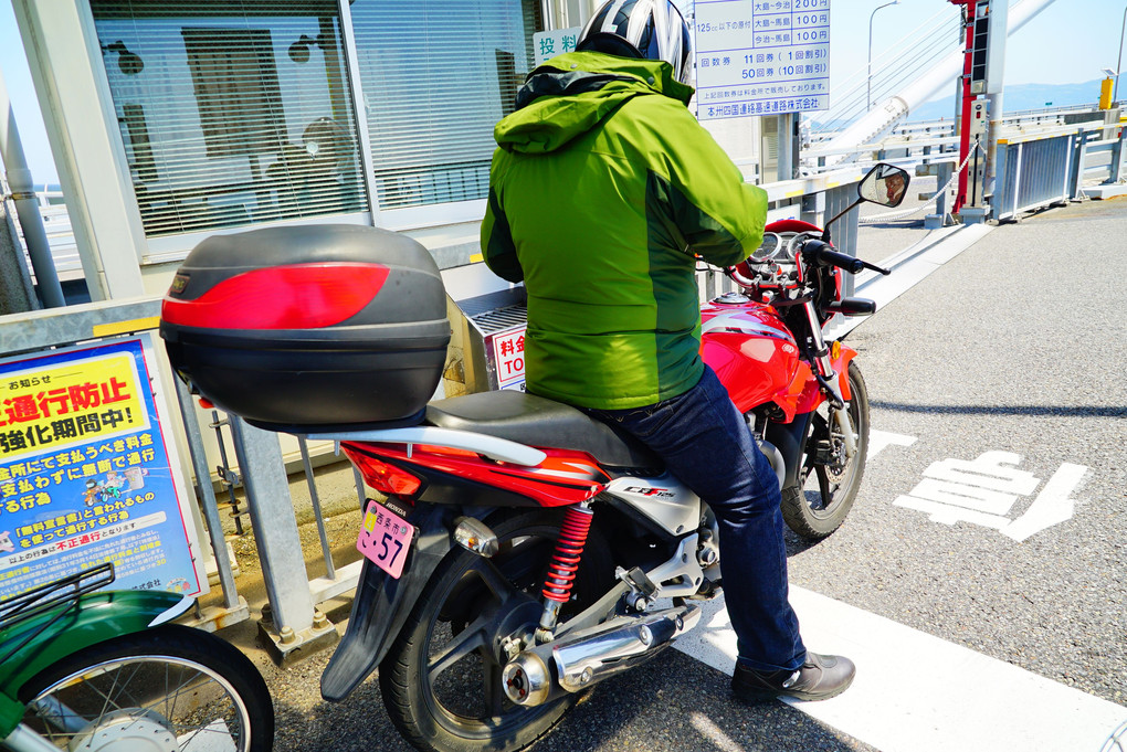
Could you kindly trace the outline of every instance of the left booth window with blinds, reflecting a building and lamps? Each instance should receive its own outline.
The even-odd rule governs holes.
[[[91,0],[145,234],[367,209],[336,0]]]

